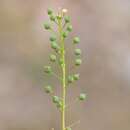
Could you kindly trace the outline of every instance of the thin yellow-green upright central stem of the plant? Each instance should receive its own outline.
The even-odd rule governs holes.
[[[60,44],[61,44],[61,58],[63,60],[62,64],[62,109],[61,109],[61,127],[62,130],[65,130],[65,106],[66,106],[66,64],[65,64],[65,45],[64,38],[62,37],[62,19],[59,19],[58,22],[59,34],[60,34]]]

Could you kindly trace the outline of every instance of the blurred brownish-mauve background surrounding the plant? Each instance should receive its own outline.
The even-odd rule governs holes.
[[[56,93],[61,90],[43,74],[51,52],[42,27],[48,7],[67,8],[74,28],[69,39],[81,38],[81,79],[67,100],[79,92],[88,98],[72,103],[67,125],[80,120],[74,130],[129,130],[129,0],[0,0],[0,130],[60,130],[60,113],[42,90],[50,82]],[[73,46],[66,46],[71,55]]]

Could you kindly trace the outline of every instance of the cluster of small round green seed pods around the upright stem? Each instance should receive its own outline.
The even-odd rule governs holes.
[[[45,30],[48,30],[51,33],[49,41],[50,41],[50,47],[53,50],[53,54],[49,55],[49,60],[53,64],[59,65],[61,69],[63,69],[65,76],[64,77],[57,76],[57,74],[55,74],[53,71],[53,67],[50,65],[44,66],[44,72],[48,75],[57,76],[59,80],[63,81],[62,85],[64,85],[65,86],[64,89],[66,89],[69,84],[79,80],[80,78],[79,73],[71,75],[66,75],[65,73],[67,68],[65,67],[66,57],[64,52],[66,52],[66,48],[64,42],[68,37],[69,33],[72,31],[73,27],[71,25],[70,16],[67,15],[68,14],[67,9],[62,9],[58,11],[57,14],[55,14],[52,9],[48,9],[47,13],[49,16],[49,22],[44,23],[44,28]],[[54,24],[57,26],[58,31],[54,30],[53,28]],[[74,37],[71,43],[75,46],[73,52],[75,55],[74,66],[79,67],[82,64],[81,59],[82,51],[80,48],[77,47],[77,44],[80,43],[80,38],[78,36]],[[52,102],[57,106],[57,108],[61,112],[64,111],[64,109],[66,108],[65,99],[63,100],[62,97],[55,95],[54,87],[51,85],[47,85],[44,87],[44,90],[47,94],[50,94]],[[66,98],[65,95],[64,98]],[[76,99],[78,99],[79,101],[84,101],[86,99],[86,94],[80,93]],[[62,130],[71,130],[71,127],[64,128],[63,126]]]

